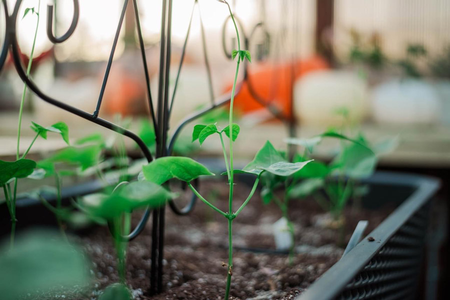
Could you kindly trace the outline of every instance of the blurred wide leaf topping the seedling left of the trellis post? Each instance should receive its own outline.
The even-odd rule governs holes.
[[[149,181],[133,181],[120,185],[112,194],[95,193],[83,198],[82,204],[95,217],[112,219],[123,212],[149,206],[160,207],[176,197],[164,187]]]

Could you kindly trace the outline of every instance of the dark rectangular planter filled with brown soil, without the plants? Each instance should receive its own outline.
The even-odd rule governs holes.
[[[404,275],[409,274],[408,270],[420,269],[427,208],[438,184],[434,179],[396,173],[376,173],[367,181],[370,192],[362,199],[364,208],[355,209],[349,205],[344,210],[345,241],[348,241],[361,219],[369,221],[365,232],[371,231],[368,236],[374,240],[363,239],[341,260],[343,248],[335,245],[337,229],[320,225],[320,219],[326,213],[312,199],[305,199],[292,202],[290,210],[297,244],[293,263],[289,264],[287,253],[276,251],[273,241],[272,223],[280,217],[280,212],[274,204],[263,205],[259,196],[255,196],[234,226],[235,274],[231,295],[235,299],[293,299],[299,294],[300,299],[331,299],[343,292],[343,295],[352,298],[355,292],[361,295],[362,291],[370,288],[389,293],[391,289],[388,286],[392,285],[382,289],[383,282],[394,282],[393,291],[411,292],[416,286],[412,279],[417,277]],[[242,195],[247,193],[248,188],[245,180],[240,180],[236,185],[235,205],[244,200]],[[202,182],[200,191],[215,194],[217,199],[222,199],[227,193],[226,185],[219,180]],[[66,194],[69,192],[73,190],[66,190]],[[28,207],[26,209],[31,209],[30,204],[25,205]],[[219,208],[226,205],[220,200],[215,204]],[[138,215],[135,215],[134,221],[137,220]],[[404,223],[407,225],[403,226]],[[165,290],[151,299],[221,298],[224,292],[221,264],[227,255],[227,235],[223,230],[226,220],[204,204],[197,203],[194,211],[187,216],[167,212],[166,224],[163,260]],[[130,243],[128,249],[126,276],[135,299],[150,298],[150,232],[151,225],[147,224],[147,228]],[[95,298],[105,286],[118,280],[114,248],[107,228],[94,227],[71,238],[80,242],[92,259],[95,280],[91,289],[67,292],[64,298]],[[395,260],[395,255],[412,255],[403,272],[402,266],[390,268],[391,264],[406,261]],[[366,266],[367,263],[372,266]],[[370,268],[374,271],[370,272]],[[391,277],[393,279],[389,280]],[[352,281],[353,278],[356,279]],[[404,278],[404,281],[394,280],[396,278]],[[332,288],[330,281],[334,282]],[[350,282],[353,283],[348,284]],[[327,284],[328,288],[323,288],[323,284]],[[41,298],[56,299],[60,296],[59,293],[46,294]]]

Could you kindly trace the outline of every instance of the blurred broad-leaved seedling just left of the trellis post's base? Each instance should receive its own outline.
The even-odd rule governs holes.
[[[153,182],[122,181],[111,192],[87,195],[77,204],[93,220],[107,222],[112,232],[120,283],[108,287],[100,299],[110,299],[112,295],[117,296],[117,293],[128,294],[120,299],[131,298],[125,285],[127,240],[122,238],[129,233],[131,212],[145,207],[160,207],[175,196],[176,194]]]

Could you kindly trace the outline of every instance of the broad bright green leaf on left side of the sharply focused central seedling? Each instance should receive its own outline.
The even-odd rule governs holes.
[[[142,167],[145,179],[162,184],[171,178],[189,182],[201,175],[214,175],[204,165],[192,158],[167,156],[156,158]]]

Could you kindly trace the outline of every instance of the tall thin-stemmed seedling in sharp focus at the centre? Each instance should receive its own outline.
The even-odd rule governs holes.
[[[145,180],[155,182],[157,184],[163,184],[168,180],[175,178],[181,181],[187,182],[187,186],[192,190],[192,192],[207,206],[211,209],[225,217],[228,221],[228,264],[227,264],[227,276],[226,276],[226,285],[225,285],[225,296],[224,298],[227,300],[229,296],[230,284],[231,284],[231,276],[233,274],[233,258],[232,258],[232,223],[233,220],[238,216],[240,211],[245,207],[248,203],[252,195],[254,194],[257,184],[259,182],[259,178],[261,174],[264,172],[269,172],[276,175],[281,176],[289,176],[290,174],[298,171],[308,162],[298,162],[298,163],[290,163],[285,160],[280,161],[276,157],[273,157],[275,153],[270,150],[266,150],[265,148],[261,149],[255,156],[255,159],[250,162],[244,169],[235,170],[233,168],[233,142],[236,140],[240,128],[239,125],[233,123],[233,102],[234,102],[234,93],[236,89],[237,76],[239,73],[239,64],[244,62],[244,60],[248,60],[251,62],[250,52],[246,50],[240,49],[240,41],[239,41],[239,32],[237,30],[236,22],[234,20],[233,14],[231,12],[231,8],[229,4],[225,0],[220,0],[220,2],[225,3],[228,7],[228,11],[231,16],[231,20],[234,24],[234,29],[236,31],[237,36],[237,47],[238,49],[234,49],[232,51],[232,58],[236,59],[236,72],[234,75],[233,86],[231,89],[231,98],[229,105],[229,114],[228,114],[228,126],[221,129],[215,123],[212,124],[198,124],[194,126],[192,133],[192,141],[198,139],[200,144],[206,140],[206,138],[212,134],[218,134],[220,137],[220,142],[223,150],[223,157],[226,166],[226,172],[223,174],[227,175],[228,178],[228,186],[229,186],[229,196],[228,196],[228,211],[225,212],[210,201],[205,199],[191,184],[191,181],[203,175],[213,175],[204,165],[194,161],[188,157],[180,157],[180,156],[170,156],[170,157],[160,157],[149,164],[142,167],[142,175]],[[229,148],[228,153],[226,152],[223,134],[229,139]],[[229,160],[228,160],[229,157]],[[248,194],[248,197],[245,201],[240,205],[240,207],[233,212],[232,204],[233,204],[233,186],[234,186],[234,174],[235,173],[248,173],[256,176],[253,187]]]

